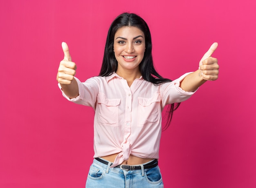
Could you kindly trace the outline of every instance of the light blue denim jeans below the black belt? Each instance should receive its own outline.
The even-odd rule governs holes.
[[[103,159],[104,160],[104,159]],[[108,161],[109,162],[109,161]],[[150,163],[149,161],[148,163]],[[90,166],[85,188],[163,188],[159,166],[141,170],[110,168],[96,159]],[[145,163],[147,164],[147,163]]]

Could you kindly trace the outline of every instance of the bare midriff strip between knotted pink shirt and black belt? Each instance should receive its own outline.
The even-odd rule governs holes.
[[[117,155],[118,155],[118,153],[113,154],[113,155],[108,155],[108,156],[105,156],[105,157],[101,157],[101,158],[103,158],[107,161],[110,161],[110,162],[114,162]],[[130,155],[128,160],[123,161],[121,164],[138,165],[138,164],[147,163],[148,161],[151,161],[151,160],[153,160],[153,159],[145,159],[145,158],[140,158],[140,157],[135,157],[133,155]]]

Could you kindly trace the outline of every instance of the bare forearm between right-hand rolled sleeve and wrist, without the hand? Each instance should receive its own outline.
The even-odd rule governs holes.
[[[181,82],[180,87],[184,91],[195,91],[199,86],[204,84],[207,80],[203,80],[202,73],[197,70],[189,75],[187,75]]]

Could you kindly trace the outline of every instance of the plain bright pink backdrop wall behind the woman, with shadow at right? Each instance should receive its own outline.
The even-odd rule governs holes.
[[[183,102],[162,134],[165,187],[255,188],[255,0],[2,0],[0,187],[84,188],[94,112],[58,89],[61,42],[80,80],[98,75],[108,28],[124,11],[148,23],[164,77],[195,71],[219,43],[219,80]]]

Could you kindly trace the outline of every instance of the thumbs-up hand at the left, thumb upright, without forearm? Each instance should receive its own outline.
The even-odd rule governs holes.
[[[60,62],[58,67],[56,80],[60,84],[71,84],[74,80],[74,75],[76,74],[76,64],[72,62],[67,44],[62,42],[61,46],[64,53],[64,59]]]

